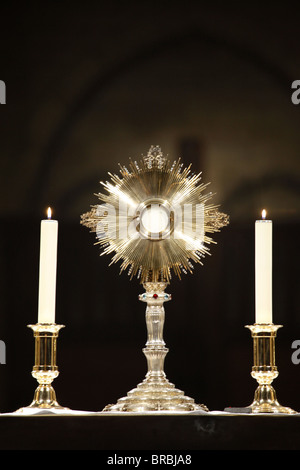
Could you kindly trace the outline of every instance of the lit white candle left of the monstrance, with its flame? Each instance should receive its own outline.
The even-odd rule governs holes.
[[[38,323],[55,323],[58,222],[41,221]]]

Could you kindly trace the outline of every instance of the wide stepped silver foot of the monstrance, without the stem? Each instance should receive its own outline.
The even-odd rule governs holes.
[[[116,404],[107,405],[104,412],[189,412],[208,411],[205,405],[198,405],[195,401],[185,396],[184,392],[175,388],[165,377],[147,377],[127,393],[127,396],[120,398]]]

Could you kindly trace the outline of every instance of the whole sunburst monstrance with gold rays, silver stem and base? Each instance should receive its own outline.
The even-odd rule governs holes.
[[[110,174],[101,182],[106,193],[98,193],[101,204],[81,216],[81,223],[96,233],[101,254],[113,254],[111,264],[121,262],[121,272],[137,277],[145,292],[147,342],[143,352],[148,372],[136,388],[107,405],[103,411],[207,411],[205,405],[170,383],[164,372],[168,352],[163,340],[165,292],[172,273],[179,277],[201,263],[213,242],[209,234],[227,225],[229,218],[210,204],[212,193],[204,193],[201,173],[192,174],[191,165],[180,159],[173,163],[160,147],[151,146],[139,162],[130,160],[129,169],[120,166],[121,177]]]

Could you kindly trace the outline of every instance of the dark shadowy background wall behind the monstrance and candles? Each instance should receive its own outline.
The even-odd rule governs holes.
[[[298,7],[299,9],[299,7]],[[172,281],[165,370],[211,410],[250,404],[254,221],[274,222],[279,401],[300,410],[299,11],[289,2],[26,2],[1,5],[0,411],[30,403],[40,220],[59,220],[59,401],[98,411],[146,373],[138,281],[99,257],[79,223],[99,181],[160,145],[231,218],[212,256]]]

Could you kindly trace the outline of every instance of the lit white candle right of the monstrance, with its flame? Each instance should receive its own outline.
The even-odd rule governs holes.
[[[272,220],[255,221],[255,322],[272,323]]]

